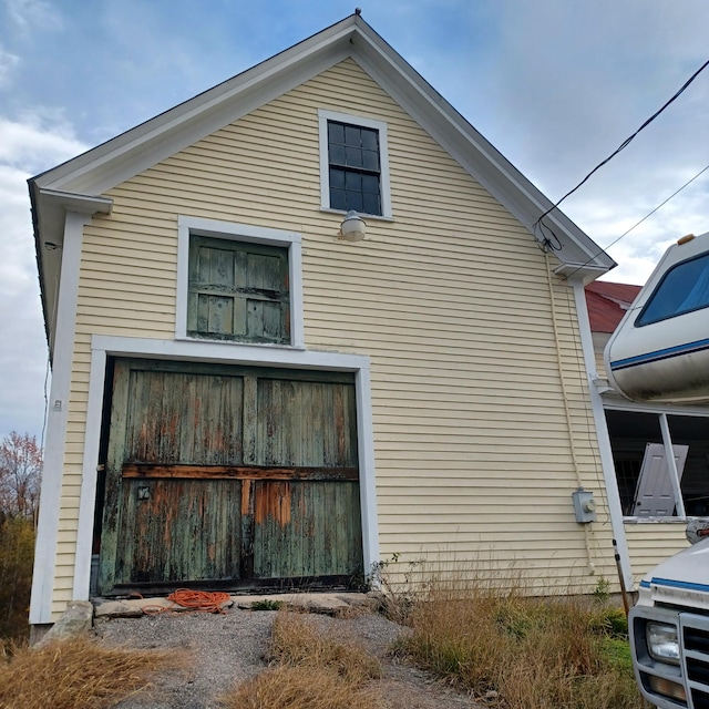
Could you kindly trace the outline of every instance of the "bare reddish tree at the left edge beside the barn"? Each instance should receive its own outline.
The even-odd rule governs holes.
[[[42,449],[29,433],[12,431],[0,443],[0,514],[35,520]]]

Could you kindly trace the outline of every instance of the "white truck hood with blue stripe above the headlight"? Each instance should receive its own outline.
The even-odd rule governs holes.
[[[640,582],[655,603],[709,609],[709,538],[656,566]]]

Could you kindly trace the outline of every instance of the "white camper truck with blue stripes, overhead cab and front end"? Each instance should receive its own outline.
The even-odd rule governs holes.
[[[633,401],[709,403],[709,233],[667,250],[604,358]],[[690,520],[687,537],[643,579],[628,618],[638,686],[661,709],[709,709],[709,520]]]

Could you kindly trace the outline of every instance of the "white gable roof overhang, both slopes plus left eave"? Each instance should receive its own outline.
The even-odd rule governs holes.
[[[531,233],[552,203],[358,14],[295,44],[29,181],[44,311],[59,278],[44,244],[61,244],[66,210],[107,214],[106,191],[233,123],[345,59],[353,59]],[[615,261],[558,209],[546,217],[557,271],[588,281]],[[45,318],[47,319],[47,318]]]

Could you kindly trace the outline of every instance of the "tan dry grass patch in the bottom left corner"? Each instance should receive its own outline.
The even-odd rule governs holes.
[[[106,648],[88,638],[16,648],[0,660],[0,709],[101,709],[147,687],[173,654]]]

